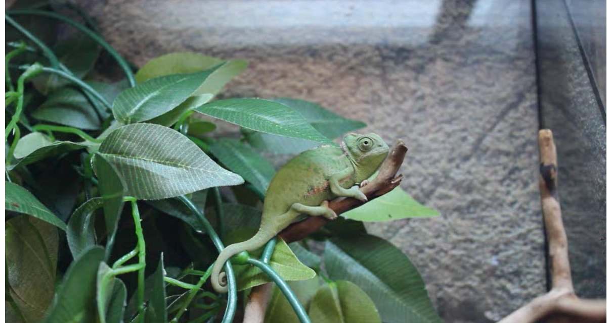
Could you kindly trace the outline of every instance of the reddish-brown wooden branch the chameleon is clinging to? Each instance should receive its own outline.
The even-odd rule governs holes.
[[[391,148],[387,158],[381,164],[378,175],[376,178],[361,187],[360,190],[364,192],[365,196],[368,197],[368,201],[371,201],[392,189],[397,187],[401,182],[401,175],[395,176],[400,169],[401,164],[404,162],[408,147],[403,142],[398,140],[394,147]],[[367,202],[365,202],[367,203]],[[336,214],[340,215],[343,212],[357,208],[357,206],[363,205],[364,202],[359,201],[355,198],[336,198],[329,202],[329,207],[333,209]],[[299,241],[319,230],[319,228],[326,225],[330,220],[325,217],[308,217],[308,219],[293,223],[289,225],[285,230],[281,231],[278,236],[283,238],[285,242],[290,243]],[[261,323],[264,321],[266,316],[266,308],[272,297],[272,283],[266,283],[259,285],[251,289],[249,294],[247,306],[244,311],[244,323]]]

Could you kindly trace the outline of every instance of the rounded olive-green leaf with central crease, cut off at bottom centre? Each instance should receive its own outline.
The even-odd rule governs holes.
[[[308,316],[313,322],[321,323],[381,322],[368,294],[346,280],[321,286],[310,304]]]

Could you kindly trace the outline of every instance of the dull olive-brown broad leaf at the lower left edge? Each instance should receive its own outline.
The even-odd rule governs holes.
[[[6,293],[27,322],[45,316],[55,290],[58,230],[46,222],[18,216],[6,222]]]

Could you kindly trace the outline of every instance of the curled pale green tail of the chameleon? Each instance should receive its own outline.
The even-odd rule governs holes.
[[[217,260],[215,261],[214,266],[212,266],[212,275],[211,275],[211,283],[212,288],[215,289],[216,292],[225,293],[228,291],[227,280],[225,277],[225,272],[221,272],[223,269],[223,265],[228,259],[232,256],[237,255],[243,251],[252,252],[255,251],[263,245],[265,245],[270,239],[274,238],[277,233],[267,233],[264,230],[259,230],[252,238],[247,241],[238,242],[237,244],[231,244],[225,247],[223,251],[219,254]]]

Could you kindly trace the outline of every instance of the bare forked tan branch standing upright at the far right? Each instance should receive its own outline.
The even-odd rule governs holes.
[[[528,323],[549,318],[550,322],[604,322],[606,301],[576,296],[567,252],[567,236],[557,191],[557,150],[553,132],[540,130],[540,200],[547,233],[552,288],[543,296],[512,312],[499,323]]]

